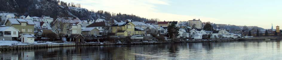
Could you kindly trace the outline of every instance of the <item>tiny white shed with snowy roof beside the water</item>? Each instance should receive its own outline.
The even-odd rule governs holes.
[[[33,44],[35,36],[33,36],[33,35],[23,35],[20,38],[22,39],[22,43]]]

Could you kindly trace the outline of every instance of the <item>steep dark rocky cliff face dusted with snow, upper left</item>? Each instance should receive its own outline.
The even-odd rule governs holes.
[[[14,12],[19,15],[93,19],[87,9],[59,5],[56,0],[0,0],[0,5],[0,11]]]

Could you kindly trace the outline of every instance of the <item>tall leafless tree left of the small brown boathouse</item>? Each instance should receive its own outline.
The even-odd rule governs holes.
[[[64,36],[63,32],[65,31],[64,29],[66,28],[68,22],[69,22],[69,20],[67,20],[67,19],[59,18],[59,19],[57,19],[57,21],[55,23],[57,29],[59,30],[58,35],[59,35],[60,39],[62,39],[62,37]]]

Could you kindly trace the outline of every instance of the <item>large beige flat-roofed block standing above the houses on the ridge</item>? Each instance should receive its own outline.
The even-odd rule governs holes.
[[[196,20],[196,19],[189,20],[189,26],[193,27],[193,25],[195,25],[194,28],[197,28],[197,29],[202,29],[203,27],[203,23],[202,21],[200,21],[200,19],[199,20]]]

